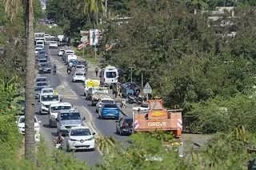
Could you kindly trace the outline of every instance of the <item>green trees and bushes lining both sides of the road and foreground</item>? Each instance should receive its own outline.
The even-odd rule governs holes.
[[[95,21],[94,10],[86,8],[83,2],[49,0],[47,3],[52,7],[47,9],[47,16],[62,26],[62,29],[47,30],[47,34],[57,35],[63,30],[64,34],[78,38],[79,30],[91,28]],[[248,161],[255,157],[247,154],[247,148],[254,148],[256,143],[253,97],[256,16],[254,8],[249,7],[255,6],[254,1],[236,4],[237,18],[230,19],[238,30],[234,38],[218,37],[214,28],[208,26],[208,14],[194,14],[194,8],[202,10],[202,6],[208,5],[213,10],[223,5],[222,2],[118,3],[110,1],[113,14],[129,15],[133,19],[122,26],[111,22],[101,26],[107,30],[102,45],[118,40],[115,48],[106,53],[106,62],[124,70],[134,66],[136,81],[141,81],[143,73],[154,95],[163,97],[167,107],[184,108],[186,132],[215,134],[196,152],[191,143],[182,159],[174,151],[175,147],[162,147],[168,136],[157,133],[130,136],[128,146],[100,136],[97,144],[103,155],[93,168],[72,154],[49,147],[43,138],[37,146],[36,164],[19,156],[23,136],[14,123],[18,110],[13,106],[24,97],[23,13],[20,7],[10,22],[1,2],[0,169],[246,169]],[[43,15],[38,5],[34,6],[34,23]],[[38,31],[46,30],[36,24],[34,27]]]

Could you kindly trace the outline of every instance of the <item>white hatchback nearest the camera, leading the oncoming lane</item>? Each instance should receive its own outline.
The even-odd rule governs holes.
[[[86,126],[71,127],[70,132],[67,136],[66,148],[70,150],[78,150],[78,149],[94,150],[95,148],[94,135],[95,135],[95,132],[90,132],[90,128]]]

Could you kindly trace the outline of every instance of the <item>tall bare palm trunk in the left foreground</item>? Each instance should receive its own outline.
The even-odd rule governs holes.
[[[26,0],[26,85],[25,85],[25,156],[35,162],[34,141],[34,27],[32,0]]]

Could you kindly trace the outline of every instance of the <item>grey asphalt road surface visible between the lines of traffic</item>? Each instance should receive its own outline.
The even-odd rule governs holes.
[[[38,74],[37,77],[47,77],[50,81],[50,86],[57,91],[62,101],[70,102],[75,108],[78,108],[82,117],[86,117],[86,125],[91,129],[92,132],[98,134],[104,134],[105,136],[113,136],[116,140],[126,140],[127,136],[118,136],[115,134],[116,120],[100,120],[98,114],[95,113],[95,106],[90,105],[90,101],[86,101],[83,97],[83,83],[82,82],[71,82],[72,73],[68,75],[66,73],[66,65],[62,61],[62,57],[58,57],[58,49],[48,49],[46,45],[46,51],[48,51],[48,58],[52,65],[57,65],[57,74],[52,73]],[[90,68],[89,68],[90,69]],[[90,77],[90,75],[86,75]],[[35,101],[36,103],[38,101]],[[52,143],[57,136],[56,128],[50,128],[48,126],[48,115],[39,115],[38,107],[36,108],[36,114],[41,123],[41,133],[46,141]],[[98,160],[100,153],[96,149],[94,152],[77,151],[74,152],[79,160],[86,160],[86,164],[93,165]]]

